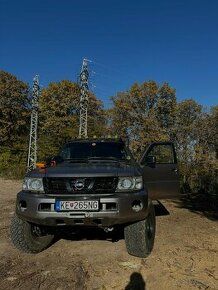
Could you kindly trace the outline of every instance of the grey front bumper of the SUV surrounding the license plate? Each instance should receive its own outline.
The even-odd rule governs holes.
[[[56,211],[55,202],[98,200],[98,211]],[[142,209],[135,211],[134,204]],[[21,191],[17,194],[16,214],[26,221],[47,225],[87,225],[107,227],[143,220],[148,215],[148,194],[145,190],[131,193],[46,195]]]

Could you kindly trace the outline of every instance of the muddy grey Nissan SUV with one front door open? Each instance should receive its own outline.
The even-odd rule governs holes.
[[[63,228],[122,227],[128,253],[147,257],[155,238],[152,200],[178,192],[171,142],[152,143],[136,162],[121,139],[76,139],[43,168],[26,174],[11,239],[19,250],[39,253]]]

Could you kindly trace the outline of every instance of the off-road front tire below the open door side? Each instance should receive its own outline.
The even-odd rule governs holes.
[[[124,228],[127,252],[130,255],[146,258],[152,251],[155,238],[155,210],[152,203],[146,219]]]

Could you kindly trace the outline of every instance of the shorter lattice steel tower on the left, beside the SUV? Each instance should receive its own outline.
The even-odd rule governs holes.
[[[33,170],[36,167],[37,161],[38,99],[39,99],[39,76],[36,75],[33,79],[33,87],[32,87],[32,112],[31,112],[27,171]]]

